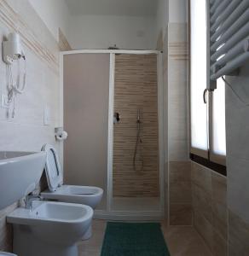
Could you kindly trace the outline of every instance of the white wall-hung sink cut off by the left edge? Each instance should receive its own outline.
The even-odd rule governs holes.
[[[44,152],[0,152],[0,210],[35,188],[45,162]]]

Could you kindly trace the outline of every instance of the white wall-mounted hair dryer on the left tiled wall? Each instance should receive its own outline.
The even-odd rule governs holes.
[[[8,40],[3,41],[3,61],[11,65],[20,58],[25,60],[25,55],[20,43],[20,35],[18,33],[10,33]]]

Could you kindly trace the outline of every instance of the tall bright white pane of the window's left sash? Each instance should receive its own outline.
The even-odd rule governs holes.
[[[207,106],[203,102],[206,89],[206,0],[191,0],[190,27],[190,108],[191,147],[208,149]]]

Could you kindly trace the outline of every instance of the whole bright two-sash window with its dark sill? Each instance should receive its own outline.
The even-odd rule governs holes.
[[[204,90],[209,83],[207,65],[206,0],[189,0],[190,50],[190,153],[192,160],[225,174],[225,86],[217,80],[217,90]]]

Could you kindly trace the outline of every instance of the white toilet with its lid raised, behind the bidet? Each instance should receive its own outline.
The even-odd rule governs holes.
[[[41,193],[43,198],[83,204],[95,209],[101,201],[103,189],[97,187],[63,184],[61,165],[55,148],[49,144],[45,144],[43,145],[42,150],[47,153],[45,172],[49,184],[49,189]],[[85,233],[83,240],[89,239],[90,236],[91,226]]]

